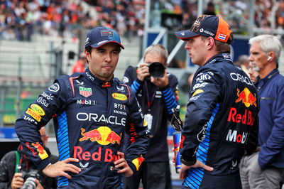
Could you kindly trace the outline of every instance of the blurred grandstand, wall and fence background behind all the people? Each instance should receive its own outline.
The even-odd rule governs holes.
[[[17,136],[16,118],[55,77],[70,75],[84,50],[84,40],[94,26],[114,28],[121,35],[115,77],[122,80],[129,65],[141,62],[152,43],[168,48],[168,71],[180,82],[181,117],[190,90],[188,77],[197,70],[174,32],[189,29],[201,13],[222,16],[234,31],[231,55],[249,55],[249,38],[268,33],[284,41],[284,1],[208,0],[1,0],[0,1],[0,141],[1,156],[10,151]],[[280,72],[284,72],[284,58]],[[47,125],[54,136],[53,121]],[[169,148],[173,129],[169,126]],[[17,146],[17,145],[15,145]],[[58,154],[55,139],[50,139]],[[2,151],[3,149],[3,151]],[[173,172],[172,172],[173,173]]]

